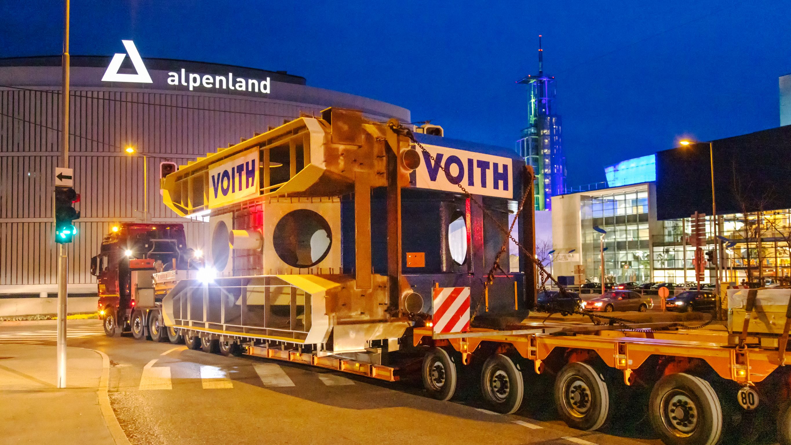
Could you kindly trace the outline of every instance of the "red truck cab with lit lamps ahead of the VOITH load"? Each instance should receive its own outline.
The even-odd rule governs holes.
[[[149,334],[151,320],[161,322],[153,273],[190,269],[195,261],[195,251],[187,249],[183,224],[113,226],[102,240],[99,255],[91,258],[91,274],[98,279],[97,309],[104,319],[105,334],[116,336],[125,330],[131,330],[135,337]]]

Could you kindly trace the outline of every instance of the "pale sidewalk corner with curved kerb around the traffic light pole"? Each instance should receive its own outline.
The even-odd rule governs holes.
[[[58,389],[55,346],[0,345],[2,443],[128,445],[107,398],[108,360],[90,349],[66,353],[68,388]]]

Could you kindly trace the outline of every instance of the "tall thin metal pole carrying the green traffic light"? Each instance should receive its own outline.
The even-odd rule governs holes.
[[[60,138],[63,142],[63,167],[69,168],[69,0],[65,0],[63,17],[63,89],[60,96],[63,105],[63,120]],[[58,387],[66,387],[66,269],[69,264],[66,246],[58,247]]]

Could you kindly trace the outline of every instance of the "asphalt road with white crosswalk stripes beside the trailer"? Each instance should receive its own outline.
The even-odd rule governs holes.
[[[107,338],[98,320],[70,320],[69,330],[70,346],[110,357],[111,405],[134,445],[660,443],[639,415],[607,432],[568,428],[544,406],[551,395],[543,388],[526,394],[517,414],[504,416],[479,409],[475,381],[458,398],[439,402],[422,395],[419,377],[386,383],[278,360]],[[0,342],[54,345],[54,331],[54,321],[3,322]]]

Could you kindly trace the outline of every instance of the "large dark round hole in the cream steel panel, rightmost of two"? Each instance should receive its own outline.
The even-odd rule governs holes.
[[[272,246],[278,257],[292,267],[316,266],[330,253],[330,224],[319,213],[298,209],[286,213],[274,226]]]

